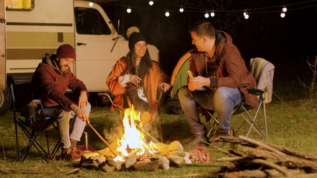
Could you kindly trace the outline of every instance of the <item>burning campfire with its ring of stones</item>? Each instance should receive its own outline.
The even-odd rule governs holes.
[[[142,129],[140,113],[133,109],[126,109],[122,120],[123,134],[117,138],[116,142],[107,144],[108,147],[93,153],[85,153],[82,156],[80,164],[85,168],[94,168],[104,172],[122,171],[122,170],[167,170],[170,166],[181,167],[189,165],[192,161],[206,160],[208,154],[196,153],[192,158],[189,152],[184,152],[183,146],[178,141],[170,144],[147,143],[146,134],[148,132]],[[95,131],[96,132],[96,131]],[[98,134],[97,134],[98,135]],[[150,135],[149,135],[150,136]],[[153,138],[150,136],[150,138]],[[104,139],[102,139],[104,140]],[[106,143],[106,141],[104,141]],[[208,158],[209,161],[209,158]]]

